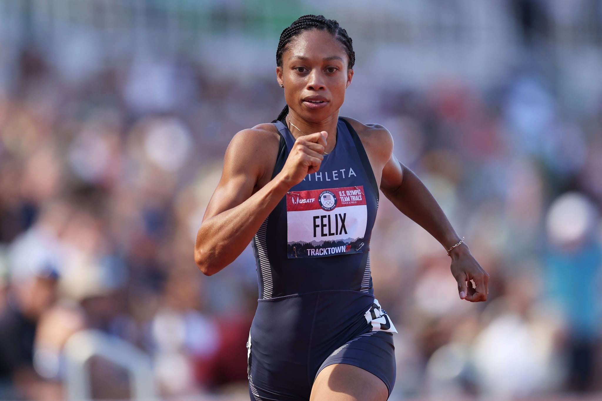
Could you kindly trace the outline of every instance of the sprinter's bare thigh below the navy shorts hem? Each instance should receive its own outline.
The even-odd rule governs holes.
[[[361,367],[334,364],[318,373],[309,401],[386,401],[385,383]]]

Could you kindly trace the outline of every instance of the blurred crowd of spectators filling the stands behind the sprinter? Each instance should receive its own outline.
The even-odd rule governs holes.
[[[284,105],[273,71],[132,55],[72,72],[35,43],[0,49],[0,399],[64,399],[64,348],[85,329],[150,355],[163,396],[244,394],[252,253],[208,278],[193,246],[229,140]],[[488,302],[460,301],[442,246],[380,202],[391,399],[602,391],[602,88],[576,112],[536,66],[486,88],[368,87],[377,101],[350,94],[350,117],[389,129],[491,275]],[[123,370],[90,368],[95,398],[131,396]]]

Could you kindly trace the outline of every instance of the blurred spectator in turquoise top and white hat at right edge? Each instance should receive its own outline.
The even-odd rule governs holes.
[[[556,198],[547,218],[545,278],[566,319],[567,387],[579,392],[594,390],[600,366],[602,246],[592,224],[597,214],[588,198],[573,192]]]

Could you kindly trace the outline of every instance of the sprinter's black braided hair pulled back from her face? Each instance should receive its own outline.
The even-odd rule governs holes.
[[[313,14],[304,15],[299,17],[291,23],[290,26],[284,28],[280,35],[280,41],[278,42],[278,49],[276,50],[276,66],[282,67],[282,55],[287,51],[287,45],[293,38],[297,37],[303,31],[310,31],[311,29],[317,29],[318,31],[327,31],[329,34],[334,36],[338,41],[343,44],[347,57],[349,57],[349,69],[353,68],[355,64],[355,52],[353,51],[353,41],[347,35],[347,31],[338,25],[338,22],[334,19],[327,19],[323,15],[315,16]],[[284,118],[288,114],[288,105],[284,106],[284,109],[278,115],[276,120],[272,121],[284,121]]]

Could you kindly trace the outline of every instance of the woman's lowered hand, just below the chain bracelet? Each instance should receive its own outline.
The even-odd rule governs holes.
[[[458,282],[460,299],[470,302],[487,301],[489,293],[489,274],[468,251],[468,246],[458,246],[452,249],[452,275]],[[473,287],[474,281],[475,287]]]

